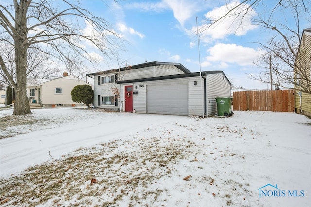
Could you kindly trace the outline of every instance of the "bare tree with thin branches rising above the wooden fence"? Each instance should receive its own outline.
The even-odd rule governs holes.
[[[235,17],[235,20],[239,21],[239,27],[243,27],[242,21],[246,15],[250,13],[253,15],[254,11],[258,11],[258,15],[252,17],[252,23],[268,31],[270,35],[266,42],[258,42],[262,56],[255,64],[264,70],[249,76],[263,83],[270,83],[276,88],[293,89],[296,84],[294,66],[304,29],[301,27],[306,21],[309,25],[311,23],[311,2],[309,0],[243,0],[236,4],[230,2],[226,1],[225,15],[217,19],[207,18],[201,32],[217,26],[229,17]],[[307,74],[309,71],[309,67],[297,69],[301,74]],[[310,81],[310,78],[306,79],[309,85]],[[304,92],[311,93],[310,87],[305,87]]]

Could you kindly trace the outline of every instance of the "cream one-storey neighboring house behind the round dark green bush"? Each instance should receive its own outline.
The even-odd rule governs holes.
[[[41,104],[44,107],[77,106],[79,103],[71,99],[71,90],[74,86],[84,84],[90,85],[64,72],[60,78],[38,80],[38,83],[33,85],[27,84],[27,96],[31,104]]]

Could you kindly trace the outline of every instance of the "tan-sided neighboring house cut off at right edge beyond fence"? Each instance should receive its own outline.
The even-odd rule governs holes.
[[[311,117],[311,28],[303,30],[294,66],[296,113]]]

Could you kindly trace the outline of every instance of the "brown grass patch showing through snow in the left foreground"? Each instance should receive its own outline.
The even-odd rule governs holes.
[[[1,179],[0,195],[9,198],[6,205],[21,206],[44,206],[48,201],[54,206],[62,205],[61,201],[71,206],[95,206],[94,197],[102,206],[114,206],[124,196],[132,200],[129,206],[144,198],[155,202],[163,190],[147,191],[148,187],[162,176],[169,176],[169,166],[190,157],[191,150],[185,149],[193,147],[194,142],[185,144],[180,146],[180,140],[172,140],[163,146],[160,138],[132,138],[91,149],[79,148],[75,156],[32,166],[19,176]],[[120,145],[126,149],[118,150]],[[94,178],[97,182],[91,183]],[[138,196],[136,189],[146,190],[145,195]]]

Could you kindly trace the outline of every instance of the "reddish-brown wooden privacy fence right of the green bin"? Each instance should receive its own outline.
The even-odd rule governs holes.
[[[294,90],[233,92],[233,111],[295,111]]]

